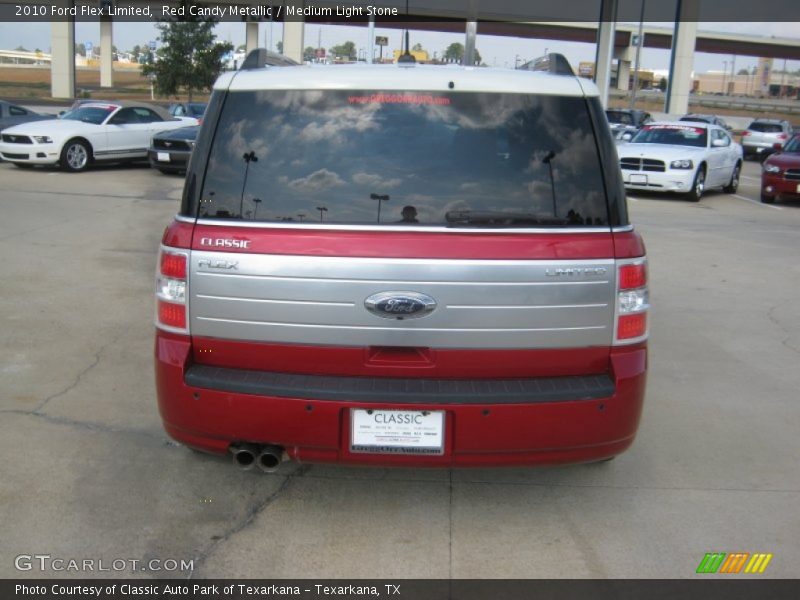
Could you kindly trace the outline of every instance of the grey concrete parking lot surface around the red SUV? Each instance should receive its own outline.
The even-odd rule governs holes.
[[[153,273],[182,179],[0,163],[0,577],[131,575],[15,567],[47,554],[193,561],[144,577],[669,578],[712,551],[796,577],[800,203],[760,204],[758,174],[699,204],[630,199],[650,372],[616,460],[264,475],[161,428]]]

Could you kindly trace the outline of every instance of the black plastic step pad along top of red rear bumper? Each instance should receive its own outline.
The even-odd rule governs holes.
[[[350,402],[407,404],[529,404],[596,400],[614,394],[607,374],[532,379],[400,379],[249,371],[192,365],[185,382],[196,388]]]

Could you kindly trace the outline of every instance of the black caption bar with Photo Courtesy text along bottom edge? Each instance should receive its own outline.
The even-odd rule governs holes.
[[[795,600],[796,580],[0,580],[3,600]]]

